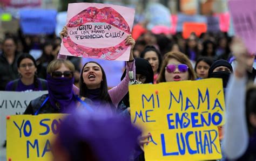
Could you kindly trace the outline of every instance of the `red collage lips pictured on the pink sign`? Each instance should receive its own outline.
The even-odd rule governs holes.
[[[122,37],[124,33],[130,34],[130,27],[126,20],[113,8],[105,7],[98,9],[96,7],[89,7],[76,16],[72,17],[68,24],[68,28],[79,27],[79,29],[86,30],[86,24],[102,23],[106,26],[114,26],[122,32],[118,33],[105,33],[107,37]],[[78,30],[78,29],[77,29]],[[89,32],[88,32],[89,33]],[[87,38],[86,36],[84,36]],[[94,34],[93,39],[103,38],[102,34]],[[92,40],[93,41],[93,40]],[[125,45],[125,40],[119,44],[103,48],[93,48],[88,46],[79,45],[75,43],[70,36],[63,38],[65,48],[74,56],[83,56],[96,59],[116,60],[127,50],[129,46]]]

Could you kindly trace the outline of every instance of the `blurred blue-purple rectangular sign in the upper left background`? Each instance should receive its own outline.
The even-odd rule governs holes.
[[[56,10],[23,9],[19,13],[24,34],[52,34],[55,32]]]

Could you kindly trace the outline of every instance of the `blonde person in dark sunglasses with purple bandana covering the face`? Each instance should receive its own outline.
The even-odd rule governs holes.
[[[78,93],[73,88],[75,67],[68,60],[53,60],[47,68],[48,92],[29,103],[24,114],[68,113],[77,107]]]

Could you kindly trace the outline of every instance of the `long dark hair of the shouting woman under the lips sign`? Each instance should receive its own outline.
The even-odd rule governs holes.
[[[89,63],[95,63],[97,64],[100,69],[102,69],[102,81],[100,82],[100,95],[99,95],[99,98],[101,101],[106,101],[106,102],[109,102],[109,103],[112,103],[111,99],[110,99],[110,96],[109,96],[109,92],[107,90],[107,81],[106,81],[106,74],[104,72],[104,69],[102,68],[102,66],[100,66],[97,62],[95,61],[89,61],[89,62],[86,62],[82,68],[82,72],[80,73],[80,81],[79,81],[79,87],[80,87],[80,96],[83,96],[83,97],[87,97],[89,95],[88,93],[88,88],[87,86],[85,85],[84,83],[84,79],[83,79],[83,70],[84,70],[84,67],[89,64]]]

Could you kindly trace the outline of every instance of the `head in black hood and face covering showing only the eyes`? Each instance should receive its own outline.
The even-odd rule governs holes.
[[[223,80],[223,88],[225,92],[231,73],[233,73],[233,68],[228,61],[217,60],[211,65],[208,71],[208,78],[221,78]]]

